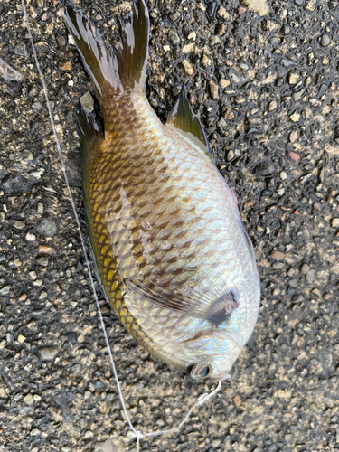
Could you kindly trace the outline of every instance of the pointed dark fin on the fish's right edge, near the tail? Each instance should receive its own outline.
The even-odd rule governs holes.
[[[210,154],[202,123],[191,108],[184,83],[175,100],[174,108],[167,118],[166,127],[175,128],[185,140],[193,142],[193,145],[199,147],[203,153]]]

